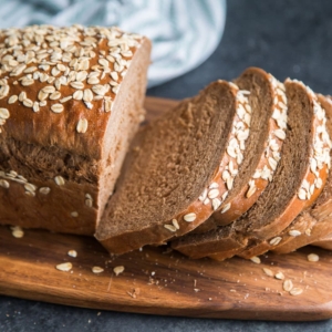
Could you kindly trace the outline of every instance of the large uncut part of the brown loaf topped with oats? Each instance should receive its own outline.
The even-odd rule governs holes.
[[[93,235],[144,116],[151,42],[0,30],[0,224]]]

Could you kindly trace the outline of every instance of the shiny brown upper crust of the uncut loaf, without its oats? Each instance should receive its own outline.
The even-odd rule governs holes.
[[[20,31],[20,30],[19,30]],[[82,32],[81,32],[82,33]],[[83,39],[81,33],[77,32],[77,35]],[[0,34],[0,44],[4,42],[7,35],[6,32]],[[141,48],[151,48],[151,42],[144,38],[139,40],[139,46],[136,45],[131,48],[133,54],[136,51],[141,51]],[[8,50],[6,45],[2,46],[2,50]],[[100,52],[106,52],[108,54],[110,46],[107,45],[106,39],[100,39],[97,46],[92,49],[93,52],[100,55]],[[141,52],[138,52],[141,53]],[[129,58],[123,59],[132,59]],[[139,55],[138,55],[139,56]],[[87,73],[93,71],[93,66],[100,65],[98,60],[102,58],[95,56],[90,60]],[[108,61],[107,61],[108,62]],[[46,62],[49,63],[49,62]],[[54,62],[55,63],[55,62]],[[63,61],[58,61],[58,64],[69,65],[69,63]],[[56,64],[55,63],[55,64]],[[41,65],[42,62],[39,63]],[[114,70],[113,63],[108,62],[111,71]],[[30,63],[27,65],[27,69],[37,66],[37,63]],[[50,77],[59,79],[61,73],[58,75],[52,75],[50,65],[49,70],[41,70],[41,73],[48,74]],[[25,69],[25,70],[27,70]],[[33,72],[32,72],[33,74]],[[7,80],[4,77],[8,77]],[[13,104],[8,104],[8,100],[12,95],[19,96],[20,93],[25,92],[27,98],[32,102],[40,101],[38,97],[39,92],[45,86],[55,87],[55,81],[49,83],[48,81],[41,82],[40,79],[33,80],[33,84],[24,86],[22,85],[22,79],[27,76],[24,72],[15,76],[8,76],[8,72],[1,74],[1,79],[7,81],[9,85],[9,93],[0,98],[0,107],[7,108],[10,113],[9,118],[6,121],[6,124],[1,127],[2,133],[0,135],[0,142],[7,137],[12,137],[17,141],[23,141],[27,143],[41,145],[41,146],[51,146],[56,145],[58,147],[72,152],[77,155],[87,155],[93,159],[100,159],[102,156],[102,146],[104,139],[104,133],[108,123],[112,112],[105,112],[104,100],[93,101],[93,107],[89,108],[84,102],[71,98],[68,102],[64,102],[64,111],[62,113],[54,113],[51,111],[54,104],[59,104],[61,98],[66,96],[73,96],[74,92],[77,89],[74,89],[69,83],[68,85],[62,84],[61,97],[56,100],[46,98],[48,104],[45,106],[40,106],[39,112],[33,112],[32,107],[24,106],[23,102],[17,101]],[[118,83],[121,84],[123,77],[118,75]],[[108,84],[111,82],[110,74],[105,75],[103,80],[100,80],[98,84]],[[14,82],[18,82],[17,84]],[[72,81],[74,82],[74,81]],[[72,83],[71,82],[71,83]],[[95,84],[89,84],[86,81],[83,82],[84,86],[80,90],[84,91],[85,89],[92,89]],[[55,90],[58,91],[58,90]],[[94,94],[95,95],[95,94]],[[116,94],[110,89],[105,94],[110,96],[112,101],[115,101]],[[116,110],[114,110],[116,112]],[[77,133],[76,125],[80,118],[86,118],[89,127],[85,134]]]

